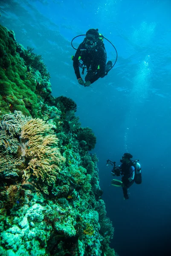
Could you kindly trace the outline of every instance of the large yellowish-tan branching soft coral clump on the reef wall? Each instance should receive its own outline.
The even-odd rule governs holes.
[[[22,128],[20,146],[23,160],[28,164],[25,175],[32,174],[48,185],[54,183],[65,158],[51,125],[39,118],[29,120]]]

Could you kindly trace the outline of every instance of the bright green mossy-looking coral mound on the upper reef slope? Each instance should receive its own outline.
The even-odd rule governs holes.
[[[27,116],[41,117],[37,82],[34,77],[28,79],[25,61],[16,46],[14,33],[0,25],[0,111],[6,114],[17,110]],[[44,87],[46,90],[49,84]],[[46,96],[48,93],[51,91],[46,90]]]

